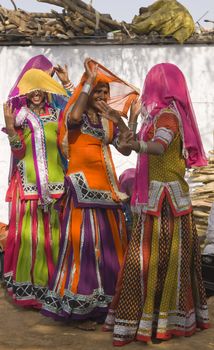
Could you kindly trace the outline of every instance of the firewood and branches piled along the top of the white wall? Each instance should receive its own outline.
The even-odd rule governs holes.
[[[178,42],[173,35],[166,35],[161,28],[158,30],[151,25],[148,25],[146,32],[145,30],[136,31],[136,16],[132,23],[118,22],[113,20],[110,14],[101,14],[82,0],[37,1],[59,6],[61,12],[53,10],[49,13],[26,12],[17,9],[14,0],[12,1],[14,10],[8,10],[0,5],[0,45],[58,43],[158,45]],[[151,7],[149,6],[148,10]],[[138,17],[141,19],[141,16]],[[148,21],[148,18],[145,21]],[[200,33],[195,31],[185,42],[188,44],[213,43],[214,31],[200,30]]]

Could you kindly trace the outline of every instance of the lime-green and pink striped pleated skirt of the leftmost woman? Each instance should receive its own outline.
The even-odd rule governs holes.
[[[54,200],[55,202],[55,200]],[[14,189],[4,256],[4,281],[14,302],[41,308],[59,252],[59,215],[38,200],[20,200]]]

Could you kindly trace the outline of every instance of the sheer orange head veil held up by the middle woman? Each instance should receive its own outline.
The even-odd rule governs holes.
[[[121,115],[126,116],[131,103],[139,96],[139,89],[122,80],[100,63],[90,60],[89,67],[91,70],[93,70],[95,65],[97,65],[97,76],[93,83],[93,87],[99,82],[108,83],[110,87],[110,99],[108,100],[108,104],[111,108],[119,111]],[[73,95],[70,97],[65,107],[64,117],[60,125],[59,146],[65,156],[67,156],[67,115],[79,97],[86,80],[87,76],[84,73],[80,83],[75,88]]]

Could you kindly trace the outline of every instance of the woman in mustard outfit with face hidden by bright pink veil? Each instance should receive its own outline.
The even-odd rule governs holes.
[[[119,149],[138,153],[131,199],[131,240],[120,290],[104,330],[113,344],[190,336],[209,327],[200,247],[185,169],[207,164],[187,84],[174,64],[155,65]],[[108,115],[106,115],[109,118]]]

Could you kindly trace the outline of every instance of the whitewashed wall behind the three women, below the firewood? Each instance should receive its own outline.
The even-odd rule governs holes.
[[[67,64],[75,84],[82,75],[86,57],[94,58],[139,88],[154,64],[175,63],[186,77],[206,152],[214,147],[214,45],[0,47],[0,128],[4,126],[2,104],[10,88],[28,59],[38,54],[46,55],[53,64]],[[126,158],[115,151],[113,157],[118,175],[135,166],[134,154]],[[8,222],[4,198],[9,158],[7,137],[0,132],[0,221],[4,222]]]

